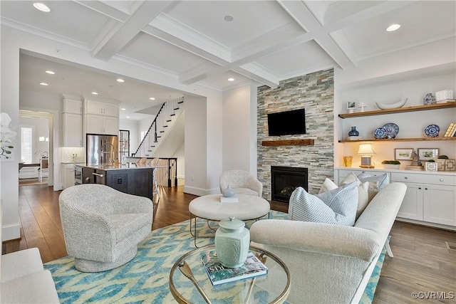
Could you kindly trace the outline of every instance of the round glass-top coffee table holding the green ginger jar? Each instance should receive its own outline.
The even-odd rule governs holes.
[[[209,244],[185,253],[171,268],[170,291],[178,303],[284,303],[290,291],[290,273],[286,265],[274,254],[254,246],[249,251],[266,258],[268,273],[256,278],[212,286],[200,260],[201,253],[214,250]],[[206,299],[179,265],[187,263]]]

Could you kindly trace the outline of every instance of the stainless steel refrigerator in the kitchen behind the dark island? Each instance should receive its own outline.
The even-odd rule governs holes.
[[[118,159],[117,135],[87,135],[86,164],[115,164],[115,159]]]

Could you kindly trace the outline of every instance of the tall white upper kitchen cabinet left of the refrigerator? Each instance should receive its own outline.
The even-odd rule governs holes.
[[[83,101],[62,95],[62,147],[83,146]]]

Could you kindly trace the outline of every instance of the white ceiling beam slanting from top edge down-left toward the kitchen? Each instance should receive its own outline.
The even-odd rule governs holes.
[[[173,4],[173,1],[143,1],[121,26],[111,28],[105,38],[95,46],[92,56],[108,61],[170,4]]]

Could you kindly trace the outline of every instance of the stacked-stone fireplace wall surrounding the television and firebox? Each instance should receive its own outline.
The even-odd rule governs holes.
[[[285,110],[306,109],[306,134],[268,136],[267,115]],[[313,140],[312,145],[296,145]],[[264,145],[264,141],[289,141],[290,145]],[[320,70],[282,80],[277,87],[257,91],[257,152],[263,198],[272,199],[271,168],[307,168],[308,187],[317,194],[326,177],[334,174],[334,70]],[[301,184],[299,184],[301,186]],[[296,185],[292,185],[294,187]],[[274,186],[274,191],[276,186]],[[304,187],[303,187],[304,188]],[[286,200],[286,198],[282,198]],[[288,201],[287,201],[288,202]]]

